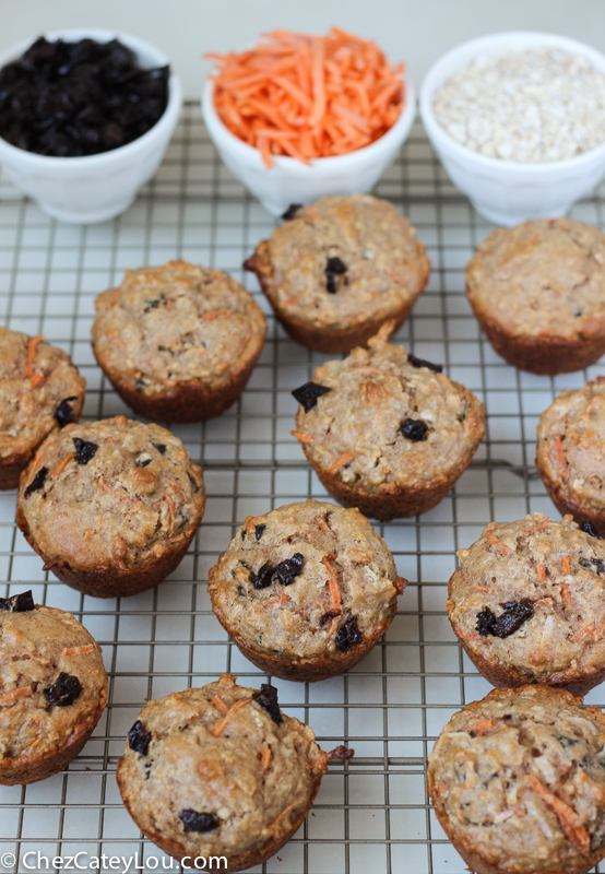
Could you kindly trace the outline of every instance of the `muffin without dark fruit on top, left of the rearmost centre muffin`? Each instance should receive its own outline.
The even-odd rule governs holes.
[[[227,273],[187,261],[127,270],[95,306],[99,367],[146,418],[217,416],[244,391],[264,343],[252,295]]]

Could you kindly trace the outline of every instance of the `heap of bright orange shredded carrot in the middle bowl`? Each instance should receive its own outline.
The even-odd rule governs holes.
[[[332,27],[327,36],[274,31],[216,61],[214,105],[238,139],[305,164],[354,152],[382,137],[404,105],[404,66],[378,46]]]

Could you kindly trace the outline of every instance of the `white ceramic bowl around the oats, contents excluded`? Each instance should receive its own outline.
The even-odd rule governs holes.
[[[511,32],[472,39],[448,51],[432,64],[420,88],[423,123],[452,182],[467,194],[477,212],[500,225],[565,215],[605,173],[605,142],[565,161],[533,164],[500,161],[461,145],[435,119],[432,95],[454,70],[466,67],[478,55],[536,46],[555,46],[583,55],[596,70],[605,72],[605,55],[583,43],[557,34]]]

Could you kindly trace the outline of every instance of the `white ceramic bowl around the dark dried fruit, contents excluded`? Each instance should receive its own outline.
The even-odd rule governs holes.
[[[111,31],[66,29],[45,34],[49,40],[98,43],[118,38],[131,48],[142,67],[163,67],[168,59],[142,39]],[[0,55],[0,67],[19,58],[32,45],[28,39]],[[37,155],[0,138],[0,164],[5,176],[36,201],[44,212],[64,222],[105,222],[127,210],[138,190],[157,169],[174,133],[182,105],[177,75],[168,80],[168,105],[159,120],[138,140],[110,152],[82,157]]]

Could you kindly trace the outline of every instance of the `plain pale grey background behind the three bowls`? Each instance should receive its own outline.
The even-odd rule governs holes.
[[[494,31],[553,31],[605,50],[604,0],[0,0],[0,50],[56,27],[109,27],[155,44],[201,93],[205,51],[227,51],[263,31],[322,33],[331,24],[376,39],[420,79],[448,48]]]

